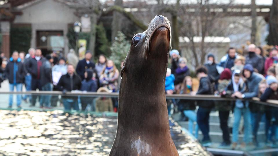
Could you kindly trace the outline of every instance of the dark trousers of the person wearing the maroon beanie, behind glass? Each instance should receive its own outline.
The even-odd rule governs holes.
[[[228,128],[228,119],[229,119],[229,114],[230,111],[219,111],[219,119],[220,119],[220,128],[222,130],[222,137],[223,141],[227,144],[231,143],[230,140],[230,132]]]

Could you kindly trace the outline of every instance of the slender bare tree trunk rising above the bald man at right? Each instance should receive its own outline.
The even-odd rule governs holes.
[[[256,44],[256,34],[257,34],[257,5],[255,0],[251,0],[251,43]]]

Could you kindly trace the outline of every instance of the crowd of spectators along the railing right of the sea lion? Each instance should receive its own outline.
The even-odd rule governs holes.
[[[235,48],[229,48],[219,63],[215,61],[214,55],[209,54],[206,63],[196,68],[195,78],[190,76],[186,58],[180,57],[177,50],[172,50],[170,53],[171,69],[168,68],[166,75],[166,94],[218,94],[222,97],[236,99],[234,101],[167,99],[168,110],[171,110],[171,106],[176,105],[177,110],[181,112],[180,120],[189,121],[188,130],[192,134],[194,134],[193,123],[197,123],[194,135],[198,138],[200,129],[203,134],[200,142],[203,146],[211,145],[209,135],[211,111],[219,113],[220,128],[223,134],[223,142],[220,146],[230,146],[232,149],[245,148],[246,144],[259,146],[257,133],[261,120],[265,122],[265,142],[275,146],[278,125],[277,107],[254,103],[251,99],[259,97],[261,101],[278,100],[277,48],[274,46],[270,49],[268,56],[261,47],[256,47],[254,44],[248,46],[245,56],[239,55]],[[230,128],[228,127],[231,112],[234,116],[232,137],[230,137]],[[238,134],[242,130],[240,128],[242,117],[244,139],[239,144]]]

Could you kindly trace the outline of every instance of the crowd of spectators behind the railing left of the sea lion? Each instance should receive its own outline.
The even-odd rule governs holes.
[[[56,95],[24,95],[17,94],[17,107],[21,108],[21,100],[34,107],[39,101],[40,108],[56,107],[58,101],[65,110],[91,109],[92,111],[117,111],[116,98],[93,98],[85,96],[67,96],[66,92],[118,92],[119,71],[112,60],[104,55],[98,57],[95,64],[92,53],[87,51],[83,60],[78,60],[74,53],[65,57],[55,51],[43,57],[41,49],[30,48],[24,52],[14,51],[8,60],[2,55],[1,81],[9,80],[10,91],[22,91],[23,84],[27,91],[62,91],[59,100]],[[104,104],[103,104],[104,103]],[[10,94],[9,108],[12,108],[13,95]],[[90,107],[89,107],[90,106]]]

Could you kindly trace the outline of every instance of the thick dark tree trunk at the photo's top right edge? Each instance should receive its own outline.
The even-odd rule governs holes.
[[[278,45],[278,1],[272,1],[269,20],[269,44]]]

